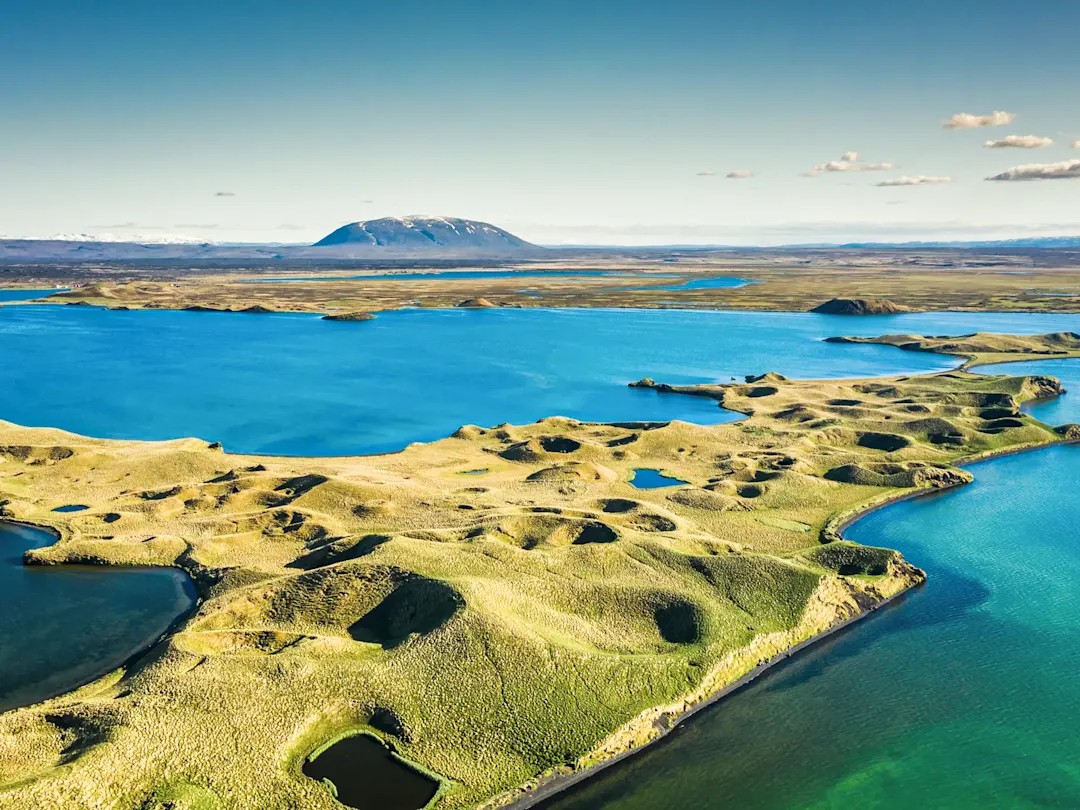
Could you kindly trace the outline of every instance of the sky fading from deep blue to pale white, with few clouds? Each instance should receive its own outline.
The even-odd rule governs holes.
[[[298,243],[409,214],[541,244],[1080,234],[1075,0],[0,0],[0,21],[6,237]]]

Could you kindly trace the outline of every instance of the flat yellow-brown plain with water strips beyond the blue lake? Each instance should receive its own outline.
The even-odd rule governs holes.
[[[513,270],[521,270],[514,275]],[[453,271],[447,276],[440,272]],[[559,274],[563,271],[565,274]],[[401,273],[402,279],[389,278]],[[368,274],[373,278],[357,278]],[[253,279],[291,280],[244,283]],[[303,283],[300,279],[320,279]],[[339,280],[330,280],[339,276]],[[633,276],[633,278],[631,278]],[[738,283],[751,284],[716,286]],[[806,311],[835,297],[916,310],[1080,311],[1080,252],[833,249],[577,252],[529,262],[8,265],[0,284],[80,286],[57,302],[352,312],[453,307],[691,307]]]

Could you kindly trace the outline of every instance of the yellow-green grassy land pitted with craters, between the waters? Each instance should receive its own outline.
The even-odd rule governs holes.
[[[773,375],[685,389],[732,424],[546,419],[351,459],[0,423],[5,514],[63,537],[29,563],[179,566],[201,596],[125,671],[0,716],[0,808],[329,810],[300,766],[354,731],[444,780],[438,807],[505,800],[920,581],[823,544],[835,518],[1062,440],[1018,409],[1052,388]]]

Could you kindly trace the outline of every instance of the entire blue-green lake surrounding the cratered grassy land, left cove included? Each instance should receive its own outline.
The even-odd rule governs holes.
[[[1058,314],[415,310],[339,324],[8,307],[0,418],[100,436],[200,435],[233,450],[374,451],[464,422],[552,414],[733,418],[706,400],[625,387],[643,376],[689,383],[955,365],[821,342],[832,335],[1078,327],[1080,315]],[[1080,383],[1069,362],[1002,370]],[[1067,395],[1034,407],[1040,418],[1075,421],[1077,403]],[[900,549],[929,572],[924,588],[549,807],[1080,806],[1080,448],[972,469],[974,485],[879,511],[848,531]],[[0,708],[108,672],[191,604],[176,571],[18,565],[25,549],[50,541],[0,529]]]

